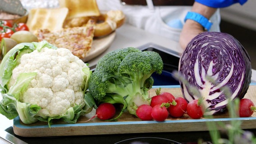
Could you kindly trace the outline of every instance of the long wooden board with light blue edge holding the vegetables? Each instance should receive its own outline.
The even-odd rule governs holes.
[[[175,97],[181,97],[179,85],[160,86],[161,92],[170,92]],[[150,95],[155,95],[155,90],[159,86],[154,86],[150,90]],[[256,84],[251,84],[245,98],[256,103]],[[242,121],[242,129],[256,128],[256,113],[251,117],[229,118],[228,113],[215,116],[212,119],[191,119],[186,114],[180,118],[168,117],[166,121],[141,121],[139,118],[124,112],[118,121],[101,121],[94,118],[87,121],[95,114],[95,110],[78,119],[76,124],[67,124],[63,121],[54,121],[49,128],[46,122],[38,121],[26,125],[19,117],[14,119],[14,133],[23,137],[47,137],[47,136],[67,136],[67,135],[107,135],[107,134],[128,134],[128,133],[148,133],[148,132],[178,132],[178,131],[207,131],[206,122],[220,121],[229,123],[231,120]],[[221,127],[219,127],[221,129]]]

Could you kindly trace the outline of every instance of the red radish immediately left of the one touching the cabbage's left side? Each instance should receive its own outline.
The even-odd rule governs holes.
[[[169,115],[172,117],[182,117],[187,111],[187,100],[182,97],[175,98],[169,107]]]

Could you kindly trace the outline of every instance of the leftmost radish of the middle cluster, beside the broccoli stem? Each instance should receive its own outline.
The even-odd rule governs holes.
[[[142,121],[151,121],[153,117],[151,116],[152,107],[148,104],[142,104],[136,110],[136,115]]]

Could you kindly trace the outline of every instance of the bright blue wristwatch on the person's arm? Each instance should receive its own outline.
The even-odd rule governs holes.
[[[212,25],[210,20],[208,20],[203,15],[195,13],[195,12],[187,12],[187,15],[186,15],[184,21],[186,22],[187,19],[192,19],[193,21],[196,21],[197,23],[201,24],[205,28],[206,31],[209,31],[210,27]]]

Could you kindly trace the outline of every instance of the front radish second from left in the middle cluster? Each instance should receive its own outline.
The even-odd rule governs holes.
[[[168,110],[165,107],[168,106],[169,103],[162,103],[162,104],[157,104],[152,108],[151,111],[151,116],[155,121],[165,121],[166,118],[169,116]]]

